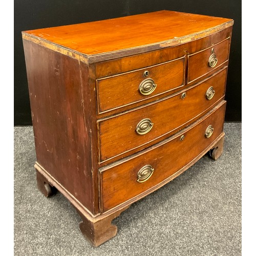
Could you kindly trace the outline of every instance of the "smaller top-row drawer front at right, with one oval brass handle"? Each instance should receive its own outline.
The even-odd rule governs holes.
[[[229,38],[219,44],[188,55],[188,83],[218,69],[229,55]]]

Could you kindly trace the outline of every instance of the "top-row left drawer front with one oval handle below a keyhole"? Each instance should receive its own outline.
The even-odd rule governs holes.
[[[184,85],[185,57],[96,80],[98,113],[163,94]]]

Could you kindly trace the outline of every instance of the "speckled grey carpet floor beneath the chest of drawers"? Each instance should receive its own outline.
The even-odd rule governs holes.
[[[241,255],[241,123],[225,123],[222,156],[134,203],[114,223],[117,236],[94,248],[60,194],[36,187],[33,130],[14,127],[14,255]]]

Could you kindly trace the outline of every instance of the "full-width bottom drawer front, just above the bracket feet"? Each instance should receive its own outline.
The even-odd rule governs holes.
[[[120,161],[114,167],[100,170],[102,210],[107,211],[144,193],[203,153],[223,132],[225,105],[222,101],[199,121],[182,130],[183,133]],[[210,125],[214,130],[207,138],[205,133]]]

